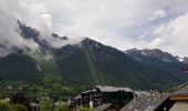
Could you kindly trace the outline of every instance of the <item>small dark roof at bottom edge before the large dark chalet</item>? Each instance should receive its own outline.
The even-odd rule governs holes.
[[[104,103],[95,108],[93,111],[119,111],[119,110],[112,103]]]

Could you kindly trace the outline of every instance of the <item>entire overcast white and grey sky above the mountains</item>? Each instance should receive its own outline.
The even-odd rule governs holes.
[[[17,21],[40,30],[88,37],[119,50],[161,49],[188,57],[188,0],[0,0],[0,43],[39,46],[17,33]]]

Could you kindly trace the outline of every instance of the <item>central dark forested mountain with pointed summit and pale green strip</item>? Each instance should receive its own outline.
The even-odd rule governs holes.
[[[181,81],[169,71],[139,63],[124,52],[88,38],[59,49],[55,58],[62,78],[73,83],[164,89]]]

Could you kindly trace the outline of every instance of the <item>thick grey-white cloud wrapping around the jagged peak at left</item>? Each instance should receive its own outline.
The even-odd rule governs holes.
[[[18,20],[46,32],[51,17],[45,13],[45,4],[36,0],[1,0],[0,1],[0,57],[17,49],[35,51],[39,46],[33,40],[25,40],[19,34]]]

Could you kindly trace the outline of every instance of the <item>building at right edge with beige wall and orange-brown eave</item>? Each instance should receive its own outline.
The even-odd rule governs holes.
[[[170,100],[175,101],[170,111],[188,111],[188,83],[182,84],[178,90],[174,91]]]

